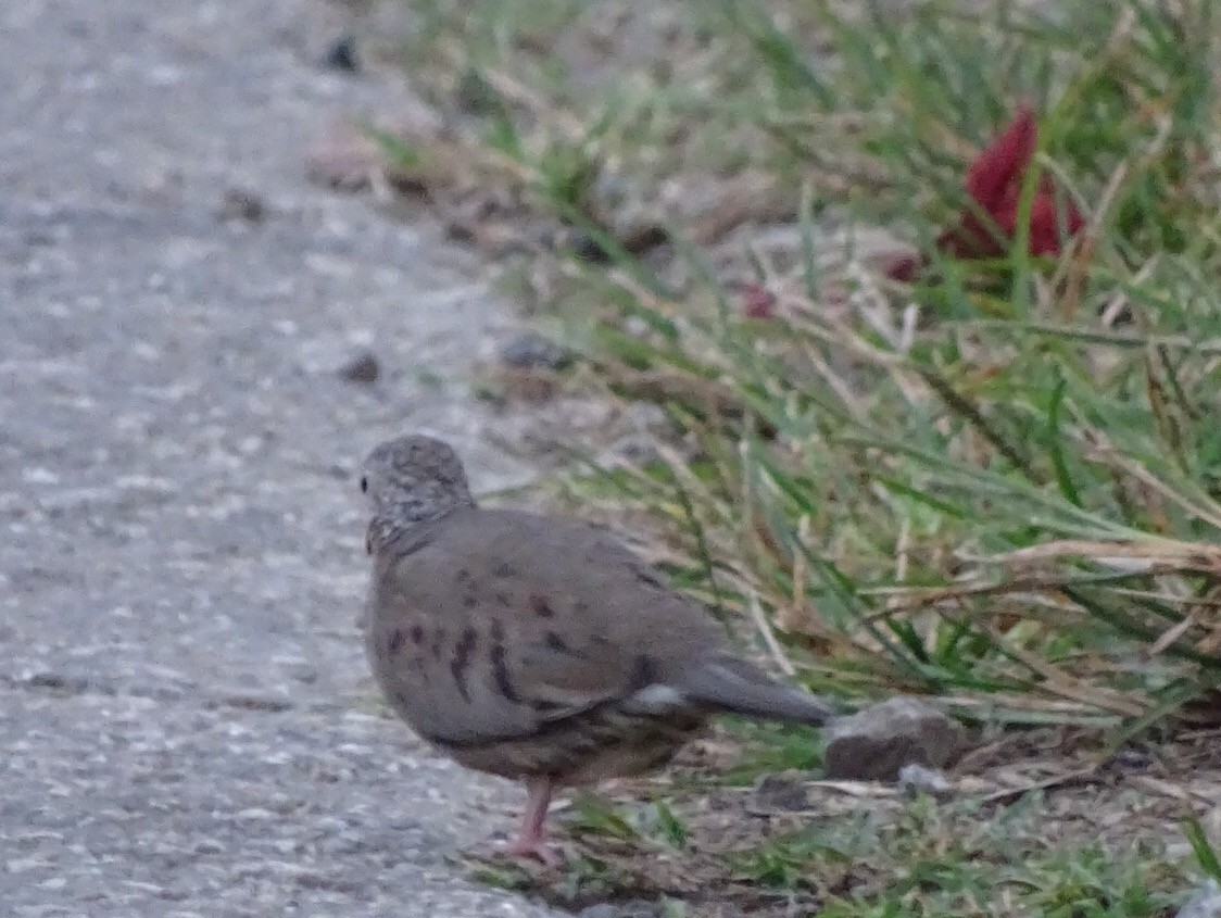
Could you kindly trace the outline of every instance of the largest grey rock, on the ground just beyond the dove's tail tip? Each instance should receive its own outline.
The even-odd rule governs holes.
[[[943,768],[958,753],[962,740],[962,729],[929,704],[890,698],[832,723],[827,776],[894,781],[907,764]]]

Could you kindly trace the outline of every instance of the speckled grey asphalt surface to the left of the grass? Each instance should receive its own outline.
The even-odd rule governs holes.
[[[505,316],[303,181],[389,92],[305,12],[0,5],[0,914],[543,913],[447,862],[521,796],[379,717],[357,631],[379,437],[520,474],[458,382]],[[335,374],[361,342],[374,387]]]

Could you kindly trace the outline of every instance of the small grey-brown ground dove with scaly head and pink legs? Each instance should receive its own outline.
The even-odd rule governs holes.
[[[730,653],[702,608],[606,532],[476,507],[441,441],[382,443],[360,488],[374,675],[433,746],[526,784],[513,855],[554,861],[543,823],[557,786],[659,767],[712,714],[830,717]]]

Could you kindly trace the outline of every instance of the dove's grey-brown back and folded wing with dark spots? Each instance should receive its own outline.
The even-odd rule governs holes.
[[[379,564],[370,652],[429,739],[525,737],[720,648],[702,609],[589,526],[471,509],[407,548]]]

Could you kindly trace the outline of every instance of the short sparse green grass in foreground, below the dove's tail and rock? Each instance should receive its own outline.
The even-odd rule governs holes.
[[[757,914],[838,918],[1172,913],[1190,867],[1168,855],[1166,839],[1116,850],[1072,819],[1049,825],[1045,803],[1032,795],[996,809],[919,797],[885,812],[756,819],[726,842],[700,826],[697,804],[675,815],[656,803],[590,797],[564,820],[579,853],[549,883],[509,866],[480,875],[568,908],[647,898],[690,914],[726,902]]]

